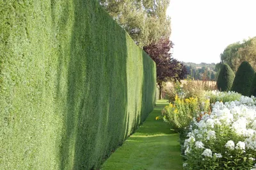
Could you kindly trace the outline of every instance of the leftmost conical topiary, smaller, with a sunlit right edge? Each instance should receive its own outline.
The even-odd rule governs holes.
[[[232,87],[235,74],[227,64],[221,66],[217,79],[217,86],[220,91],[229,91]]]

